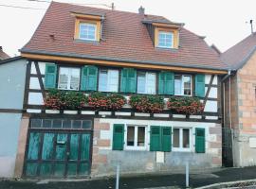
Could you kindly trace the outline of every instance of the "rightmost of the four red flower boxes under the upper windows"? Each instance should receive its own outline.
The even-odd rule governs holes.
[[[186,114],[196,114],[204,111],[204,104],[200,102],[199,98],[192,96],[172,96],[167,102],[167,107],[174,112]]]

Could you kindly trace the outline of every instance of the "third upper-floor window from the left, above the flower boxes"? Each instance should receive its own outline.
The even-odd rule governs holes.
[[[137,94],[155,94],[155,73],[137,73]]]

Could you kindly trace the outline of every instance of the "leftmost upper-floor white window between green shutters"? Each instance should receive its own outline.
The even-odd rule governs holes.
[[[61,90],[79,90],[80,69],[79,68],[60,68],[59,85]]]

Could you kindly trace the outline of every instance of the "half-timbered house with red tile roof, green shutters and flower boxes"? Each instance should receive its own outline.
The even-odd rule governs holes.
[[[222,166],[229,66],[184,24],[142,8],[52,2],[21,56],[15,177],[112,175],[118,163],[121,174]]]

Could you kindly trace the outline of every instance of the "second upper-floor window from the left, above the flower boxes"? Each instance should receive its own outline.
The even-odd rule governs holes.
[[[119,70],[101,70],[99,78],[100,92],[119,91]]]

